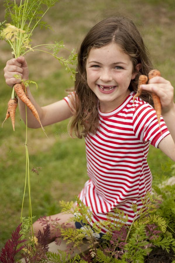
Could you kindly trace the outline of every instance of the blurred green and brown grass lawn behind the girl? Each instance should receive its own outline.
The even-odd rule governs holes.
[[[17,1],[18,2],[18,1]],[[78,48],[92,25],[102,18],[120,13],[131,17],[141,30],[155,68],[175,86],[175,1],[174,0],[60,0],[46,15],[52,30],[40,30],[33,34],[32,45],[63,40],[69,49]],[[4,20],[4,7],[0,2],[0,21]],[[62,52],[60,52],[60,55]],[[5,41],[0,42],[0,123],[3,122],[11,89],[4,80],[3,68],[11,59],[11,50]],[[63,56],[67,56],[63,53]],[[39,52],[26,56],[30,79],[39,89],[31,90],[40,105],[55,102],[66,96],[65,89],[73,81],[57,60]],[[59,114],[59,113],[55,113]],[[60,211],[59,200],[74,200],[87,180],[84,140],[71,139],[67,134],[69,120],[41,129],[28,129],[28,150],[32,172],[32,211],[36,219]],[[0,129],[0,249],[20,222],[22,195],[25,181],[25,132],[26,127],[17,110],[15,132],[11,120]],[[150,147],[148,162],[153,173],[153,183],[171,175],[169,160],[160,150]],[[41,167],[37,168],[37,167]],[[28,215],[26,193],[24,216]]]

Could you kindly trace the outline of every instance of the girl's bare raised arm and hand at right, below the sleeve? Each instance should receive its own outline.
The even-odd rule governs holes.
[[[148,84],[141,85],[141,89],[148,92],[154,92],[160,98],[162,116],[170,134],[160,141],[158,147],[175,162],[174,88],[168,80],[162,77],[154,77],[149,80]]]

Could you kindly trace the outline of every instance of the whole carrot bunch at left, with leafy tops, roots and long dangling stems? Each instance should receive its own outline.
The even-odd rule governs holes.
[[[53,7],[58,0],[5,0],[4,6],[5,10],[5,18],[4,21],[0,22],[0,40],[5,40],[7,44],[12,49],[13,58],[18,58],[19,56],[24,56],[26,53],[30,51],[42,51],[52,55],[56,58],[61,65],[65,66],[65,70],[70,73],[71,78],[75,79],[75,70],[74,65],[77,63],[77,54],[75,49],[72,51],[65,48],[63,41],[55,41],[54,43],[47,44],[39,44],[37,46],[31,45],[31,38],[33,31],[36,27],[47,27],[51,28],[46,22],[43,21],[44,15],[48,12],[48,10]],[[61,49],[66,49],[70,52],[70,56],[65,59],[63,57],[59,57],[58,53]],[[36,119],[40,122],[37,117],[37,112],[32,105],[30,98],[26,95],[26,89],[23,90],[22,86],[25,85],[25,88],[28,84],[34,83],[37,86],[37,83],[32,80],[24,81],[20,78],[20,76],[14,76],[18,81],[16,85],[13,86],[12,94],[10,101],[8,103],[8,109],[6,113],[5,120],[11,117],[13,130],[15,129],[15,110],[17,107],[17,97],[23,98],[23,102],[26,107],[29,107],[36,117]],[[19,84],[19,78],[21,84]],[[24,84],[24,85],[23,85]],[[20,87],[20,91],[19,91]],[[22,100],[22,99],[21,99]],[[12,109],[12,110],[11,110]],[[13,112],[12,112],[13,111]],[[13,113],[13,114],[12,114]],[[4,123],[4,122],[3,122]],[[40,122],[41,124],[41,122]],[[41,128],[42,124],[41,124]],[[44,129],[43,129],[44,131]],[[45,133],[45,132],[44,132]],[[28,190],[29,190],[29,220],[32,225],[32,205],[30,198],[30,169],[29,169],[29,154],[27,148],[27,108],[26,108],[26,141],[25,141],[25,150],[26,150],[26,175],[25,175],[25,189],[22,200],[22,210],[23,203],[26,191],[26,184],[28,182]],[[22,229],[24,226],[25,218],[22,216],[21,210],[21,222]]]

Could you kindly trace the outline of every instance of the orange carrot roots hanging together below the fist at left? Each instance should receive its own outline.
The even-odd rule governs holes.
[[[31,110],[32,114],[37,119],[37,121],[41,125],[41,128],[44,131],[44,128],[43,128],[41,121],[39,119],[38,112],[37,112],[36,108],[34,107],[34,105],[32,104],[32,102],[30,101],[30,99],[28,98],[26,88],[25,88],[25,84],[23,82],[21,82],[21,83],[15,84],[13,86],[13,88],[15,90],[16,96],[18,96],[18,98],[22,102],[24,102],[25,105],[27,105],[27,107]],[[14,99],[11,98],[9,100],[8,109],[7,109],[6,118],[5,118],[5,120],[7,120],[9,117],[11,117],[13,130],[15,130],[15,112],[16,112],[16,108],[18,105],[18,98],[15,97]],[[5,120],[4,120],[4,122],[5,122]]]

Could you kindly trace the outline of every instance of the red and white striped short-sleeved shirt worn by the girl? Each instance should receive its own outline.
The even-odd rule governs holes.
[[[110,113],[99,110],[99,128],[85,138],[89,180],[79,198],[92,212],[90,225],[106,220],[115,207],[128,215],[127,224],[131,224],[136,216],[131,206],[136,204],[139,210],[141,198],[151,192],[149,144],[158,147],[169,131],[162,117],[159,127],[155,110],[148,103],[136,98],[133,104],[134,94],[132,91]],[[69,104],[69,96],[65,100]]]

